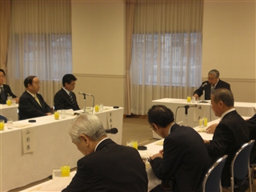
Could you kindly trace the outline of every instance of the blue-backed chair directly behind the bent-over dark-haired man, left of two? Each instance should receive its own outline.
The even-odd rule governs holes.
[[[205,178],[202,182],[202,191],[210,192],[210,191],[222,191],[221,186],[221,177],[222,177],[222,169],[226,162],[227,155],[224,155],[222,158],[219,158],[214,165],[210,167],[207,171]]]

